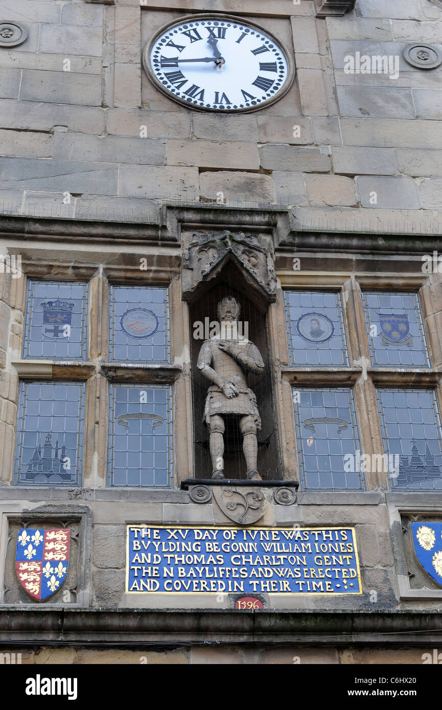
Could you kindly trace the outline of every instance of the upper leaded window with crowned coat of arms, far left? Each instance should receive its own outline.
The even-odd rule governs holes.
[[[23,358],[84,360],[87,283],[28,281]]]

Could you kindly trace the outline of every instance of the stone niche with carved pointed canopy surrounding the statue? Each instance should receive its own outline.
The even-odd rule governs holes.
[[[225,296],[233,296],[241,306],[239,321],[242,327],[247,324],[248,339],[257,346],[264,361],[263,373],[259,376],[249,373],[247,382],[256,395],[262,421],[262,429],[257,433],[258,471],[264,480],[281,480],[266,324],[269,303],[276,297],[271,237],[243,232],[232,234],[229,231],[183,233],[182,237],[183,299],[189,303],[195,479],[207,479],[212,474],[209,437],[203,423],[207,386],[210,383],[197,368],[204,338],[195,337],[195,324],[203,323],[210,327],[210,324],[217,322],[218,302]],[[238,417],[227,417],[225,422],[225,478],[245,479],[246,466]]]

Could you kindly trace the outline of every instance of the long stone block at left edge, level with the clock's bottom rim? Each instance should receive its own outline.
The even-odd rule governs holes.
[[[104,111],[94,107],[0,99],[0,128],[50,131],[53,126],[68,126],[70,131],[99,135],[104,131]]]

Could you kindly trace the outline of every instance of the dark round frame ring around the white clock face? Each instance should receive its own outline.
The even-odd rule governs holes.
[[[168,91],[165,86],[161,83],[161,81],[158,79],[156,76],[156,73],[153,70],[153,67],[151,65],[151,53],[153,46],[155,43],[158,41],[159,38],[161,38],[163,35],[165,35],[168,30],[171,30],[177,26],[183,26],[183,25],[188,25],[193,22],[200,22],[202,20],[213,20],[214,22],[227,22],[227,23],[235,23],[237,26],[244,25],[246,28],[251,28],[254,31],[257,31],[259,34],[263,34],[274,42],[277,48],[281,50],[281,53],[284,55],[284,60],[286,61],[287,65],[287,75],[284,83],[281,85],[279,90],[274,94],[274,96],[271,96],[267,98],[265,101],[261,100],[259,104],[257,105],[249,105],[249,106],[243,106],[243,107],[238,107],[237,109],[235,108],[230,108],[230,109],[222,109],[218,107],[211,107],[211,106],[202,106],[200,103],[196,104],[188,99],[182,99],[179,96],[176,96],[173,94],[171,91]],[[173,21],[168,22],[166,25],[163,25],[156,33],[153,35],[153,38],[146,44],[144,47],[143,51],[143,65],[144,65],[144,70],[146,71],[146,74],[149,77],[149,80],[151,80],[152,84],[159,89],[163,94],[165,94],[169,99],[172,101],[177,102],[178,104],[181,104],[182,106],[187,107],[188,109],[193,109],[193,111],[201,111],[201,112],[211,112],[214,114],[243,114],[243,113],[252,113],[252,111],[260,111],[261,109],[265,109],[266,107],[271,106],[271,104],[274,104],[276,101],[279,101],[284,94],[286,94],[289,89],[291,88],[291,85],[293,84],[293,80],[296,75],[296,67],[295,67],[295,62],[294,58],[292,56],[293,53],[290,53],[289,50],[286,48],[283,42],[281,40],[276,39],[276,37],[269,31],[263,30],[259,25],[257,25],[254,22],[250,22],[246,18],[235,16],[235,15],[226,15],[224,13],[222,14],[217,14],[214,12],[210,13],[200,13],[198,15],[186,15],[182,18],[175,18]],[[233,102],[232,102],[233,103]]]

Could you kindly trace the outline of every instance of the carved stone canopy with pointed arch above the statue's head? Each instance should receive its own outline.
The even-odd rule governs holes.
[[[244,277],[253,281],[266,300],[276,299],[271,238],[227,230],[183,235],[183,298],[189,299],[198,284],[215,278],[229,259],[236,261]]]

